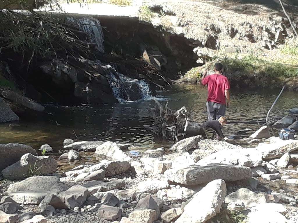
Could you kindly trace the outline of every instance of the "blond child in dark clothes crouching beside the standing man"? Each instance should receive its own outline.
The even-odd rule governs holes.
[[[221,126],[227,123],[227,119],[224,116],[221,116],[218,120],[210,120],[203,123],[203,130],[206,134],[207,139],[213,139],[215,132],[220,138],[227,140],[221,131]],[[215,131],[215,132],[214,132]]]

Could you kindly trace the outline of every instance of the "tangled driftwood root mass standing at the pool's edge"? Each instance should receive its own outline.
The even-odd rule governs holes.
[[[183,106],[176,112],[168,107],[169,101],[162,105],[155,101],[155,108],[150,108],[154,119],[154,134],[161,135],[164,139],[172,138],[179,141],[179,136],[184,136],[189,125],[187,109]],[[200,127],[200,126],[199,126]]]

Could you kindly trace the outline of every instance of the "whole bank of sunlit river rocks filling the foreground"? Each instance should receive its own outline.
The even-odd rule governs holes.
[[[66,172],[30,146],[2,144],[0,222],[298,222],[298,140],[260,141],[243,148],[193,136],[141,154],[68,139],[60,159],[84,151],[101,161]]]

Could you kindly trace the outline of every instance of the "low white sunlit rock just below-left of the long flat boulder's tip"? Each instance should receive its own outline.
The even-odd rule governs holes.
[[[158,190],[169,188],[167,181],[157,179],[147,179],[142,181],[136,187],[136,192],[156,193]]]

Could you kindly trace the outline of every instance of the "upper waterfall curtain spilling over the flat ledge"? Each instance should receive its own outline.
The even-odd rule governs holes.
[[[104,52],[103,46],[103,29],[100,25],[100,22],[97,19],[83,17],[83,18],[75,18],[68,17],[67,20],[72,23],[77,23],[80,28],[80,31],[86,32],[93,43],[96,43],[97,50],[100,52]]]

